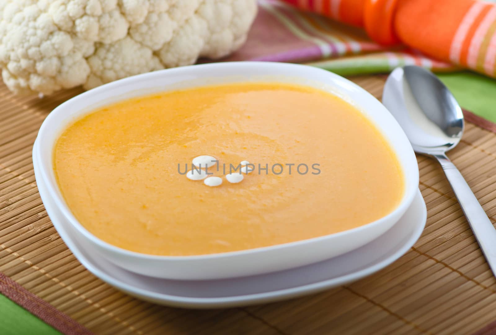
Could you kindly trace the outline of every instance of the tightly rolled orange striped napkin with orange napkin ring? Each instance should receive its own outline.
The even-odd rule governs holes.
[[[283,0],[363,28],[381,45],[496,76],[496,4],[481,0]],[[436,65],[434,65],[436,67]]]

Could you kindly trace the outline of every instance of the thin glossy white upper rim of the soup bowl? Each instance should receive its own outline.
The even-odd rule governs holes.
[[[321,71],[321,72],[324,72],[326,73],[326,75],[330,76],[331,78],[333,78],[334,80],[337,80],[337,81],[341,81],[341,84],[343,86],[347,86],[348,89],[353,89],[353,90],[356,90],[358,91],[360,94],[362,95],[365,95],[365,96],[368,96],[369,98],[372,98],[373,100],[377,101],[377,99],[375,99],[375,97],[373,97],[369,92],[367,92],[365,89],[363,89],[362,87],[360,87],[359,85],[355,84],[354,82],[342,77],[342,76],[339,76],[335,73],[332,73],[332,72],[329,72],[327,70],[323,70],[323,69],[320,69],[320,68],[317,68],[317,67],[312,67],[312,66],[308,66],[308,65],[302,65],[302,64],[293,64],[293,63],[279,63],[279,62],[264,62],[264,61],[239,61],[239,62],[221,62],[221,63],[208,63],[208,64],[198,64],[198,65],[188,65],[188,66],[182,66],[182,67],[176,67],[176,68],[170,68],[170,69],[164,69],[164,70],[159,70],[159,71],[153,71],[153,72],[147,72],[147,73],[143,73],[143,74],[138,74],[138,75],[135,75],[135,76],[131,76],[131,77],[127,77],[127,78],[124,78],[124,79],[120,79],[120,80],[117,80],[117,81],[113,81],[111,83],[108,83],[108,84],[105,84],[105,85],[102,85],[102,86],[99,86],[99,87],[96,87],[94,89],[91,89],[89,91],[86,91],[84,93],[81,93],[67,101],[65,101],[64,103],[62,103],[61,105],[59,105],[57,108],[55,108],[52,112],[50,112],[50,114],[45,118],[45,120],[43,121],[43,124],[41,125],[40,127],[40,130],[38,132],[38,136],[37,136],[37,140],[35,141],[35,144],[34,144],[34,147],[33,147],[33,160],[34,159],[38,159],[37,157],[37,153],[41,153],[41,140],[39,140],[40,138],[43,137],[43,134],[48,130],[48,127],[49,127],[49,124],[54,122],[54,123],[57,123],[57,116],[58,116],[58,113],[61,113],[63,112],[63,109],[65,107],[65,105],[68,105],[69,103],[76,103],[78,101],[83,101],[84,99],[86,99],[88,96],[92,95],[92,94],[96,94],[96,93],[100,93],[102,91],[106,91],[106,90],[110,90],[110,89],[113,89],[113,88],[118,88],[119,86],[123,85],[123,84],[126,84],[126,83],[130,83],[134,80],[139,80],[139,79],[143,79],[143,78],[147,78],[148,80],[152,81],[153,78],[155,77],[159,77],[159,76],[163,76],[163,75],[166,75],[166,74],[173,74],[175,72],[183,72],[183,71],[187,71],[187,70],[191,70],[191,69],[194,69],[194,68],[198,68],[198,67],[203,67],[203,68],[211,68],[212,71],[215,71],[216,68],[232,68],[233,69],[233,72],[236,71],[236,68],[237,67],[240,67],[240,66],[253,66],[253,67],[266,67],[267,70],[269,70],[270,68],[273,68],[274,66],[281,66],[281,67],[287,67],[288,69],[290,69],[291,67],[298,67],[298,68],[301,68],[301,67],[305,67],[305,68],[310,68],[311,70],[310,71]],[[258,69],[259,70],[259,69]],[[292,77],[292,76],[288,76],[288,77]],[[310,77],[301,77],[302,80],[303,79],[311,79]],[[345,91],[343,89],[341,89],[341,91]],[[335,93],[335,92],[331,92],[331,93]],[[123,100],[125,100],[126,98],[124,98]],[[378,101],[377,101],[378,102]],[[378,102],[380,104],[380,102]],[[396,119],[391,115],[391,113],[382,105],[380,104],[380,106],[382,107],[382,109],[384,110],[384,117],[386,118],[389,118],[389,122],[392,122],[392,123],[395,123],[398,127],[399,130],[401,130],[401,126],[398,124],[398,122],[396,121]],[[371,120],[374,124],[376,124],[376,121],[372,118],[370,118],[368,115],[366,115],[366,117]],[[378,129],[380,131],[380,129]],[[405,133],[401,130],[401,133],[400,133],[400,136],[403,136],[404,138],[401,139],[402,141],[406,141],[406,143],[410,143],[407,136],[405,135]],[[117,247],[113,244],[110,244],[108,242],[105,242],[104,240],[98,238],[97,236],[93,235],[89,230],[87,230],[81,223],[79,223],[79,221],[74,217],[74,215],[72,214],[71,210],[68,208],[68,206],[66,205],[64,199],[62,198],[61,195],[59,195],[60,192],[57,192],[57,190],[59,189],[59,186],[58,185],[54,185],[52,182],[51,182],[51,178],[48,177],[48,174],[54,174],[54,170],[53,170],[53,150],[54,150],[54,147],[55,147],[55,143],[50,143],[52,149],[51,149],[51,158],[50,158],[50,168],[49,168],[49,171],[47,171],[46,167],[43,165],[43,164],[40,164],[39,166],[39,171],[40,171],[40,175],[42,177],[42,179],[44,180],[45,182],[45,186],[48,190],[48,193],[49,195],[51,196],[52,200],[55,202],[55,205],[60,209],[62,215],[69,221],[69,223],[74,226],[81,234],[83,234],[86,238],[90,239],[93,243],[99,245],[100,247],[102,248],[105,248],[105,249],[108,249],[114,253],[118,253],[118,254],[121,254],[123,256],[126,256],[126,257],[132,257],[132,258],[138,258],[138,259],[143,259],[143,260],[155,260],[155,261],[160,261],[160,260],[163,260],[163,261],[177,261],[177,262],[182,262],[182,261],[193,261],[193,260],[205,260],[205,259],[219,259],[219,258],[224,258],[224,257],[233,257],[233,256],[238,256],[238,255],[243,255],[243,254],[247,254],[247,253],[258,253],[258,252],[263,252],[263,251],[266,251],[266,250],[273,250],[273,249],[280,249],[280,248],[288,248],[288,247],[291,247],[293,245],[297,245],[297,244],[311,244],[313,243],[314,241],[319,241],[319,240],[323,240],[323,239],[326,239],[326,238],[329,238],[330,236],[332,237],[338,237],[338,236],[341,236],[341,235],[345,235],[345,234],[348,234],[350,232],[355,232],[355,231],[359,231],[361,229],[366,229],[366,228],[370,228],[372,225],[378,225],[380,224],[382,221],[384,220],[387,220],[388,218],[396,215],[398,212],[401,212],[401,213],[404,213],[408,208],[409,206],[411,205],[413,199],[415,198],[416,196],[416,189],[418,188],[418,183],[419,183],[419,170],[418,168],[415,169],[415,175],[409,175],[409,176],[406,176],[405,175],[405,194],[403,195],[403,199],[401,200],[400,204],[398,205],[398,207],[396,207],[396,209],[394,211],[392,211],[391,213],[389,213],[388,215],[376,220],[376,221],[373,221],[371,223],[367,223],[367,224],[364,224],[362,226],[359,226],[359,227],[356,227],[356,228],[353,228],[353,229],[348,229],[348,230],[345,230],[345,231],[341,231],[341,232],[337,232],[337,233],[334,233],[334,234],[329,234],[329,235],[324,235],[324,236],[318,236],[318,237],[314,237],[314,238],[310,238],[310,239],[305,239],[305,240],[299,240],[299,241],[294,241],[294,242],[289,242],[289,243],[283,243],[283,244],[277,244],[277,245],[272,245],[272,246],[266,246],[266,247],[259,247],[259,248],[253,248],[253,249],[245,249],[245,250],[239,250],[239,251],[231,251],[231,252],[225,252],[225,253],[215,253],[215,254],[206,254],[206,255],[191,255],[191,256],[162,256],[162,255],[151,255],[151,254],[144,254],[144,253],[139,253],[139,252],[134,252],[134,251],[130,251],[130,250],[126,250],[126,249],[123,249],[123,248],[120,248],[120,247]],[[411,147],[411,145],[409,144],[409,150],[411,150],[411,155],[413,155],[413,157],[415,158],[415,153],[413,151],[413,148]],[[415,163],[416,164],[416,163]],[[403,163],[402,163],[403,165]],[[55,178],[55,174],[53,175],[54,177],[54,180],[56,179]],[[412,185],[409,185],[410,184],[413,184],[415,183],[415,187],[413,188],[413,191],[412,191]],[[408,190],[411,190],[410,192],[408,192]]]

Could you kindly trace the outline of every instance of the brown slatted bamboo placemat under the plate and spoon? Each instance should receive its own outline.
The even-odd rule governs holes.
[[[380,97],[383,76],[352,80]],[[174,309],[121,293],[70,253],[34,178],[31,149],[38,128],[52,109],[78,93],[20,98],[0,86],[0,272],[94,333],[451,335],[472,334],[496,320],[496,280],[441,168],[422,156],[427,227],[405,256],[371,277],[299,299],[225,310]],[[449,155],[493,223],[495,144],[495,133],[467,123]]]

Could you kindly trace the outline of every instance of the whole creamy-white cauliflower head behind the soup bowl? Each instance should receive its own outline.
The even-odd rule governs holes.
[[[255,14],[256,0],[1,0],[1,73],[18,94],[90,89],[227,56]]]

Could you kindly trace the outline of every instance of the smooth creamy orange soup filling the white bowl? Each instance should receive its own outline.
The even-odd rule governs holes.
[[[219,161],[208,173],[221,185],[182,174],[200,155]],[[242,161],[254,170],[229,182],[224,164],[229,173]],[[304,165],[297,171],[300,164],[307,173]],[[404,193],[394,152],[361,112],[329,93],[284,83],[204,86],[106,106],[62,133],[54,167],[83,226],[155,255],[323,236],[387,215]]]

